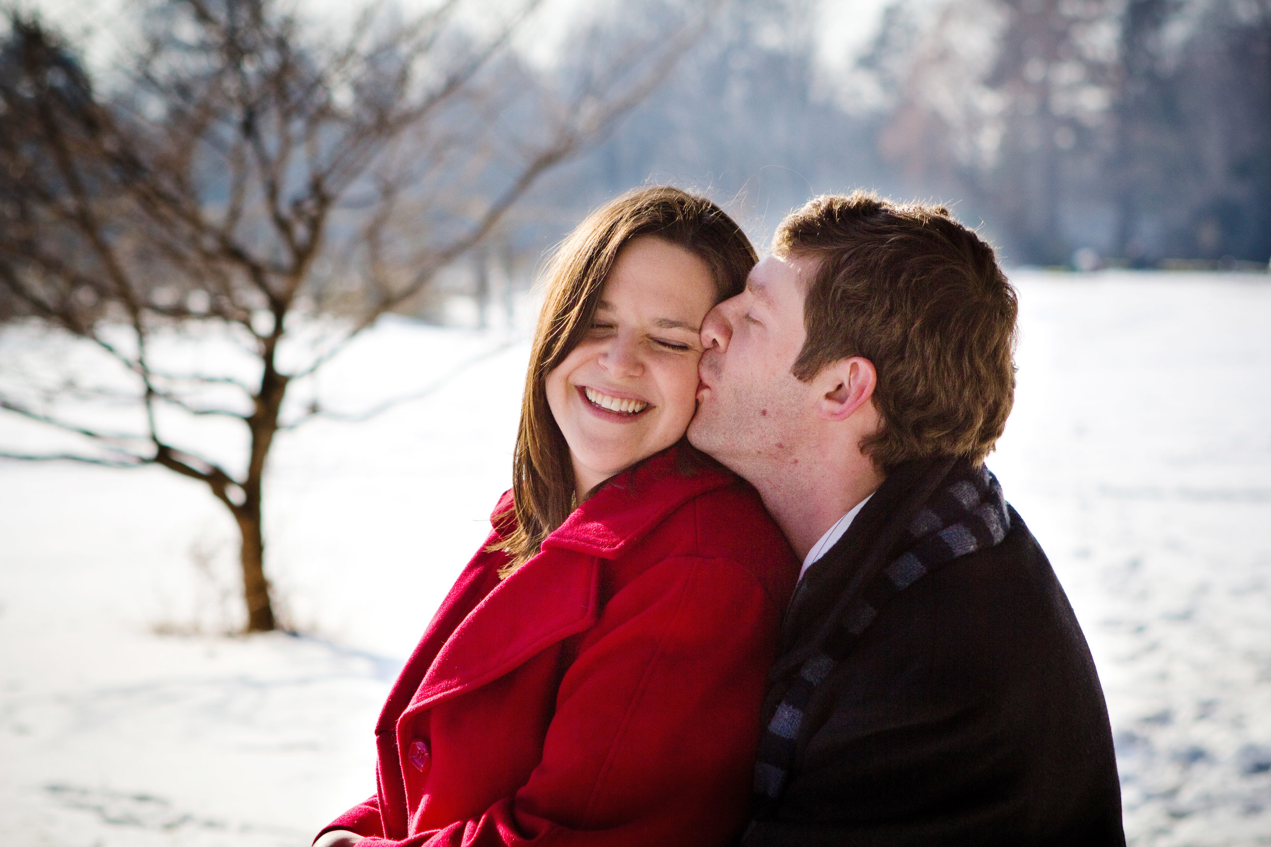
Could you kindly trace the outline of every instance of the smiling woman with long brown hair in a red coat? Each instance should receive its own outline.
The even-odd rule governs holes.
[[[389,693],[376,795],[315,847],[736,834],[798,566],[684,432],[702,320],[754,263],[722,210],[665,187],[566,240],[512,490]]]

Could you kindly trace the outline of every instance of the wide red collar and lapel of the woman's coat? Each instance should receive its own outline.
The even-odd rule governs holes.
[[[455,627],[407,714],[497,679],[591,627],[600,613],[597,560],[618,557],[685,502],[733,480],[700,461],[683,472],[680,466],[695,457],[681,456],[681,450],[686,448],[672,447],[624,471],[574,509],[544,540],[539,555],[496,585]],[[510,493],[500,498],[491,516],[496,531],[507,530],[511,505]],[[497,564],[502,561],[500,556]]]

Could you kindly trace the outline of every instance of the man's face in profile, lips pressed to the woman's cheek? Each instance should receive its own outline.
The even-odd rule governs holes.
[[[702,324],[694,447],[755,481],[793,450],[812,423],[815,391],[791,367],[803,347],[803,297],[816,260],[768,257],[746,290],[710,310]]]

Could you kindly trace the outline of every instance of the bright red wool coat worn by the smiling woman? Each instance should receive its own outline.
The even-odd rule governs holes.
[[[746,814],[760,704],[798,563],[758,495],[671,448],[506,580],[486,546],[375,728],[364,847],[708,847]]]

